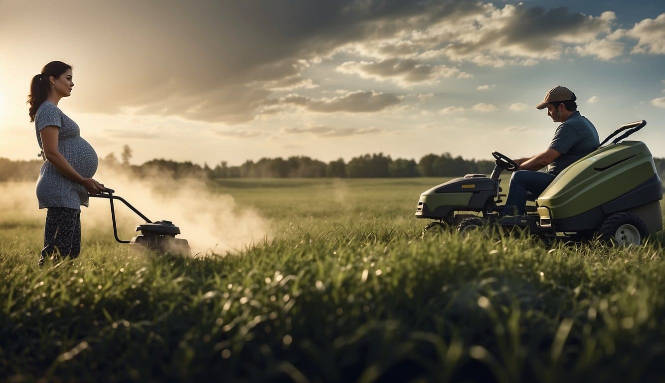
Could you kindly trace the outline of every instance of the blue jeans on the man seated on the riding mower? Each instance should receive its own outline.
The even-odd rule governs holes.
[[[527,201],[536,198],[552,183],[555,175],[532,170],[517,170],[510,178],[510,190],[505,200],[503,215],[523,215]]]

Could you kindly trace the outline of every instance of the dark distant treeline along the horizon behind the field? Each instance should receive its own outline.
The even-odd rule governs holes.
[[[454,177],[469,173],[487,174],[494,168],[491,160],[465,160],[450,153],[427,154],[420,161],[397,158],[384,154],[364,154],[348,163],[341,158],[329,163],[309,157],[295,156],[286,160],[261,158],[257,162],[246,161],[240,166],[228,166],[223,161],[214,168],[192,162],[150,160],[142,165],[130,165],[131,152],[123,154],[119,162],[111,153],[100,158],[100,168],[112,168],[132,172],[137,176],[159,174],[170,178],[396,178],[396,177]],[[662,179],[665,176],[665,159],[655,158],[656,169]],[[0,158],[0,181],[36,180],[42,160],[12,161]]]

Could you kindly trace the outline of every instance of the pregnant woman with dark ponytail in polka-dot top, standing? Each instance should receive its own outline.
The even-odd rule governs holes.
[[[37,142],[44,164],[37,180],[40,209],[48,209],[44,229],[45,259],[72,258],[80,253],[80,206],[88,206],[88,193],[106,188],[92,179],[97,154],[81,138],[76,122],[58,108],[58,102],[72,93],[72,67],[61,61],[46,64],[30,84],[30,122],[35,122]]]

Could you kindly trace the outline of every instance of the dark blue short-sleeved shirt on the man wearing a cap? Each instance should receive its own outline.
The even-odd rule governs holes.
[[[573,112],[554,134],[550,149],[561,153],[561,156],[547,166],[550,174],[559,174],[573,162],[593,152],[600,145],[598,131],[580,112]]]

